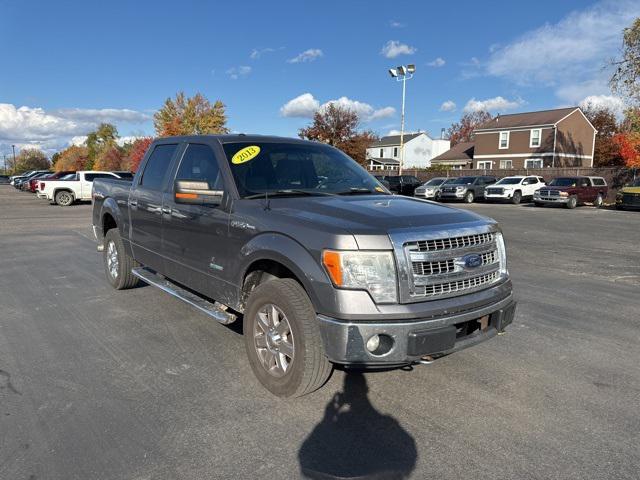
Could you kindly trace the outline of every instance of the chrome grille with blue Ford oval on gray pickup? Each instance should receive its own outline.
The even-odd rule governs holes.
[[[403,248],[410,264],[408,293],[414,300],[462,295],[500,279],[493,232],[418,240]]]

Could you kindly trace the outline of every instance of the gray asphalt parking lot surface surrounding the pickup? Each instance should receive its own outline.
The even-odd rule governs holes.
[[[280,400],[237,328],[109,286],[91,205],[0,185],[0,478],[637,479],[640,212],[463,208],[503,226],[507,334]]]

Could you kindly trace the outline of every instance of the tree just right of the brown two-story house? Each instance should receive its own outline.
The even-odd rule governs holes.
[[[620,156],[620,146],[613,140],[619,130],[616,115],[607,107],[591,103],[585,105],[582,111],[598,131],[593,152],[593,165],[595,167],[622,165],[624,161]]]

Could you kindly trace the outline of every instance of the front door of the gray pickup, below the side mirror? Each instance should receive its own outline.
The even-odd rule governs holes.
[[[217,159],[208,145],[187,146],[175,179],[206,181],[211,190],[225,190]],[[229,212],[224,201],[222,205],[190,205],[176,203],[174,195],[171,186],[164,198],[162,251],[166,275],[215,299],[225,291],[222,276],[228,254]]]

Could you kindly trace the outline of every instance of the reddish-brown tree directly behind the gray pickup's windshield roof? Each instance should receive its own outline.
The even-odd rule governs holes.
[[[359,125],[357,113],[330,103],[318,110],[311,125],[301,128],[298,135],[337,147],[364,166],[367,147],[378,137],[371,131],[359,131]]]

